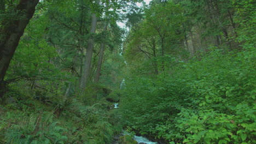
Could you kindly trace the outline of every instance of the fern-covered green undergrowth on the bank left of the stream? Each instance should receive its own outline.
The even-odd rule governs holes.
[[[37,99],[31,91],[10,89],[0,105],[0,143],[111,143],[121,133],[117,111],[104,97],[86,104],[85,95]]]

